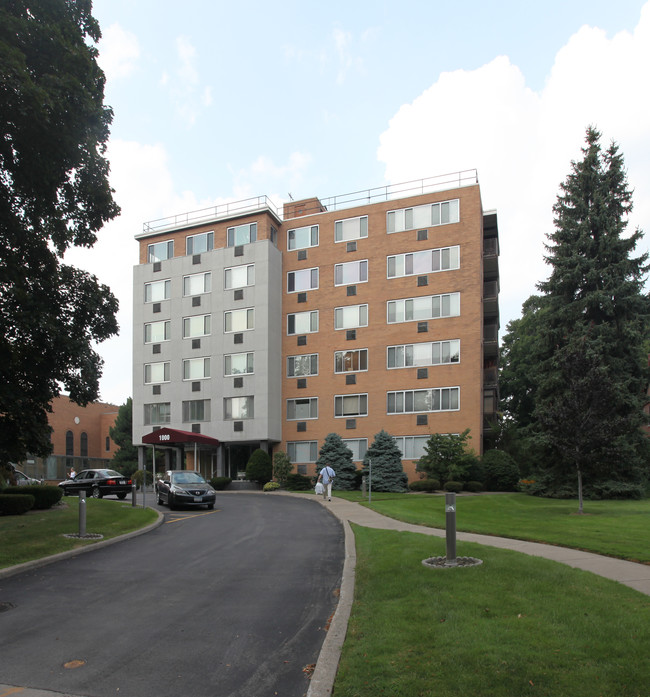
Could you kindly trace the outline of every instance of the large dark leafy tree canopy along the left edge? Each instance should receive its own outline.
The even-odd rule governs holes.
[[[52,399],[97,398],[117,332],[110,290],[62,261],[119,212],[100,36],[90,0],[0,5],[0,462],[50,452]]]

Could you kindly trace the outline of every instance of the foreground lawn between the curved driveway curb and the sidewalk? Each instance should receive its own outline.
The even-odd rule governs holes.
[[[463,543],[354,527],[352,616],[335,697],[648,697],[650,605],[613,581]]]

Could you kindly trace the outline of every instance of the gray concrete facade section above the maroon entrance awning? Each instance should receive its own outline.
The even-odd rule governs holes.
[[[203,225],[201,232],[205,229]],[[170,230],[170,239],[176,232]],[[192,234],[191,229],[184,232]],[[158,233],[156,241],[160,239]],[[226,269],[241,274],[242,267],[254,269],[254,282],[226,289]],[[188,293],[185,286],[192,281],[201,286],[201,292],[194,288]],[[156,285],[147,297],[149,284]],[[231,475],[229,448],[247,444],[270,450],[279,442],[282,254],[275,244],[261,239],[139,264],[134,267],[133,288],[133,443],[142,444],[143,436],[160,427],[200,432],[218,439],[222,446],[201,447],[199,469],[208,475]],[[229,313],[235,313],[230,315],[230,327],[226,325]],[[202,324],[201,318],[208,318],[205,332],[184,338],[185,321]],[[168,324],[162,329],[161,323]],[[155,327],[153,340],[147,337],[147,325]],[[159,340],[161,332],[164,336]],[[252,354],[252,370],[226,375],[225,357],[239,355],[241,360],[241,354]],[[194,374],[196,368],[202,374]],[[246,407],[240,398],[250,398]],[[233,399],[234,405],[229,401]],[[162,415],[159,405],[164,405]],[[250,407],[252,416],[247,411]],[[235,411],[228,413],[229,409]]]

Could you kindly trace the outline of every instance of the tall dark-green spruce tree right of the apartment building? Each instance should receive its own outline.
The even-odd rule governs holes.
[[[589,128],[583,159],[561,185],[546,247],[552,271],[539,284],[536,431],[561,473],[577,475],[580,510],[583,477],[615,494],[648,474],[647,254],[634,256],[640,230],[626,234],[632,192],[623,157],[615,144],[603,152],[599,140]]]

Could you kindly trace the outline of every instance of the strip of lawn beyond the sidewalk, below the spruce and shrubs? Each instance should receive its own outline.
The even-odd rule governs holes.
[[[336,492],[363,503],[360,492]],[[441,496],[373,493],[370,508],[416,525],[445,527]],[[577,502],[526,494],[458,496],[456,529],[519,540],[584,549],[596,554],[650,564],[650,499]],[[650,692],[649,692],[650,694]]]

